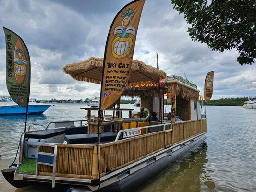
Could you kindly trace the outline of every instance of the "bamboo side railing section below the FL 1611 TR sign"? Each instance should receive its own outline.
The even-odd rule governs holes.
[[[164,131],[100,145],[100,173],[116,170],[164,148]]]

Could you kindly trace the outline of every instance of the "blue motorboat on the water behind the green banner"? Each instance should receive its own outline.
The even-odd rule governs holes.
[[[42,114],[51,105],[39,103],[37,100],[31,100],[28,103],[28,114]],[[17,105],[11,98],[0,100],[0,115],[21,115],[26,113],[26,108]]]

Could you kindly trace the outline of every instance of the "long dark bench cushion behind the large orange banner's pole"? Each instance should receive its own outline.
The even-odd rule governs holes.
[[[99,134],[100,141],[114,141],[117,133],[102,132]],[[65,135],[65,141],[69,144],[84,144],[97,142],[97,134],[78,134],[78,135]]]

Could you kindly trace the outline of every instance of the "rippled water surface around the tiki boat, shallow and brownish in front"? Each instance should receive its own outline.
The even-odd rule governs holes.
[[[28,124],[36,130],[50,121],[84,120],[86,111],[80,107],[85,105],[58,104],[43,115],[30,115]],[[121,108],[139,109],[129,104]],[[12,163],[23,130],[24,116],[0,116],[0,169]],[[256,110],[207,106],[207,131],[200,147],[141,192],[256,192]],[[0,192],[54,191],[45,185],[16,189],[1,174],[0,186]]]

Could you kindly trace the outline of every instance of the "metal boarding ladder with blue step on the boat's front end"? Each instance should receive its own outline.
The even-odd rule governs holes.
[[[48,146],[54,148],[53,153],[40,152],[42,146]],[[56,174],[56,156],[57,156],[57,145],[55,144],[40,144],[37,149],[37,164],[36,164],[36,176],[38,176],[38,164],[52,166],[52,183],[51,187],[55,187],[55,174]]]

